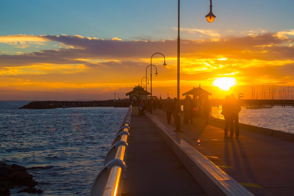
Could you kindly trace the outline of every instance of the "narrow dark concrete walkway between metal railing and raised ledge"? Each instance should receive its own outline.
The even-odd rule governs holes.
[[[132,116],[129,132],[127,196],[207,195],[146,116]]]

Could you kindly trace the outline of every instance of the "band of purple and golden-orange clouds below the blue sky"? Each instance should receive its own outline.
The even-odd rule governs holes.
[[[294,30],[289,30],[181,40],[181,83],[209,86],[217,77],[232,75],[239,85],[294,86],[293,35]],[[112,90],[132,88],[141,83],[150,57],[156,52],[164,54],[168,66],[162,68],[161,55],[153,56],[152,64],[160,72],[160,76],[152,76],[153,86],[156,88],[159,81],[166,86],[176,86],[176,40],[123,41],[117,37],[104,40],[79,35],[20,34],[0,36],[0,43],[32,50],[0,55],[1,90],[68,87],[107,92],[108,86],[112,86]],[[44,46],[50,49],[42,49]]]

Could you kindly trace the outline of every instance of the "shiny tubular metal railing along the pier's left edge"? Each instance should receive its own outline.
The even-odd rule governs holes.
[[[104,167],[96,176],[92,188],[91,196],[115,196],[123,192],[123,177],[126,171],[126,153],[128,149],[129,130],[131,125],[132,105],[121,123],[116,137],[112,142],[104,160]]]

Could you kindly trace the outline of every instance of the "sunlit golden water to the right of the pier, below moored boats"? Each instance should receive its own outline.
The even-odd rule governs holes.
[[[224,119],[219,107],[212,107],[212,116]],[[258,127],[294,133],[294,108],[274,106],[273,108],[247,109],[241,107],[239,122]]]

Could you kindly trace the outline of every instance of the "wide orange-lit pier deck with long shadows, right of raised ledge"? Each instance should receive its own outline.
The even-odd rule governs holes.
[[[163,110],[155,110],[153,115],[175,128],[173,121],[166,123]],[[177,135],[254,195],[294,195],[293,135],[280,139],[289,134],[281,132],[277,138],[270,136],[272,133],[260,134],[272,130],[247,126],[240,127],[240,138],[224,138],[223,128],[224,122],[214,118],[208,125],[204,118],[193,118],[193,124],[181,123],[183,133]],[[197,146],[198,139],[201,147]]]

